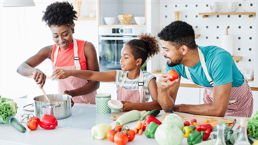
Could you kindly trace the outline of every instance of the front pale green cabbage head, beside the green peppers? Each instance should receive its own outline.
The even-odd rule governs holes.
[[[159,145],[178,145],[184,137],[182,130],[173,123],[160,124],[154,136]]]

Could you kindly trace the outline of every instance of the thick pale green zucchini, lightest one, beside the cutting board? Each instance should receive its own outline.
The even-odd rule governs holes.
[[[135,121],[139,119],[140,116],[141,116],[141,113],[138,110],[132,110],[132,111],[126,112],[125,114],[117,118],[116,125],[123,125],[125,123]]]

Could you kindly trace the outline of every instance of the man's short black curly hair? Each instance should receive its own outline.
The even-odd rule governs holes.
[[[197,48],[195,43],[195,33],[191,25],[183,21],[174,21],[167,25],[158,33],[158,37],[179,49],[186,45],[190,49]]]

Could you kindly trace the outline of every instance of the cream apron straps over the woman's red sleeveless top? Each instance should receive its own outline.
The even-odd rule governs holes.
[[[77,41],[74,38],[72,38],[72,40],[74,41],[74,65],[76,66],[76,70],[81,70],[79,57],[78,57]],[[57,49],[55,50],[53,66],[55,66],[55,63],[57,62],[58,51],[59,51],[59,46],[57,46]]]

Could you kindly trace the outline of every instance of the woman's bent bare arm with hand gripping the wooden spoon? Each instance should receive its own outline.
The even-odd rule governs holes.
[[[25,62],[20,64],[17,68],[17,72],[23,76],[33,75],[34,72],[33,79],[37,84],[41,83],[40,87],[43,87],[46,75],[41,70],[35,69],[34,67],[41,64],[47,58],[51,59],[52,50],[53,45],[43,47],[37,54],[31,56]]]

